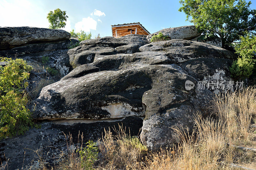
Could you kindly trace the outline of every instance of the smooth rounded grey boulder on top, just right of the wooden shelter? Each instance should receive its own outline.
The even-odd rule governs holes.
[[[158,35],[159,32],[162,32],[164,36],[167,36],[168,39],[185,39],[185,40],[194,39],[199,35],[201,35],[202,33],[202,32],[199,32],[194,25],[180,26],[175,28],[165,28],[163,30],[150,34],[147,36],[147,40],[150,42],[150,39],[152,38],[152,36]]]

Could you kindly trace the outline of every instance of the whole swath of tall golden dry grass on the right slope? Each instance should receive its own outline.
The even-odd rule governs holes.
[[[250,123],[256,113],[256,89],[249,87],[234,93],[216,96],[211,116],[203,118],[200,113],[194,116],[195,127],[192,133],[172,127],[180,138],[175,151],[154,153],[148,159],[149,170],[174,169],[230,169],[238,140],[248,142]]]

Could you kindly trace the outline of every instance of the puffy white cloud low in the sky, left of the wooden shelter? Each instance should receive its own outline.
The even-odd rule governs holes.
[[[96,30],[97,21],[91,17],[83,18],[82,21],[75,24],[76,32],[83,30],[85,32],[90,32],[90,30]]]

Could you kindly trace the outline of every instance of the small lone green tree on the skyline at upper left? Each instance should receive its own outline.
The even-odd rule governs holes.
[[[49,28],[60,29],[65,27],[67,18],[66,11],[61,11],[59,8],[54,10],[54,12],[50,11],[47,15],[47,19],[50,23]]]

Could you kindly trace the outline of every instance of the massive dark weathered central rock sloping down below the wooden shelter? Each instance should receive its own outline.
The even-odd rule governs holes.
[[[228,67],[236,56],[188,40],[143,45],[139,38],[138,42],[131,37],[120,39],[87,40],[72,49],[74,55],[93,50],[110,53],[95,54],[93,62],[81,63],[60,81],[44,87],[33,101],[34,117],[100,121],[143,116],[141,141],[151,150],[172,147],[179,141],[170,127],[190,130],[193,114],[212,99],[212,91],[186,90],[185,82],[230,80]],[[134,47],[133,53],[116,52],[125,43]]]

